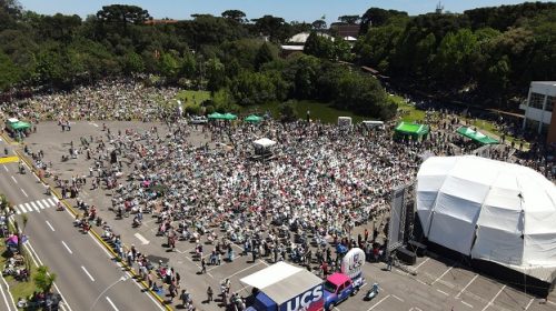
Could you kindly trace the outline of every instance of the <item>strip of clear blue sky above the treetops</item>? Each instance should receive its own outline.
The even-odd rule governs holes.
[[[445,10],[463,12],[479,7],[516,4],[518,0],[444,0]],[[548,2],[548,0],[542,1]],[[272,14],[286,21],[312,22],[322,16],[327,22],[336,21],[339,16],[361,16],[368,8],[395,9],[411,16],[431,12],[438,0],[20,0],[26,10],[42,14],[79,14],[82,18],[95,14],[102,6],[125,3],[139,6],[149,11],[153,18],[190,19],[192,13],[210,13],[220,16],[228,9],[238,9],[247,18],[259,18]]]

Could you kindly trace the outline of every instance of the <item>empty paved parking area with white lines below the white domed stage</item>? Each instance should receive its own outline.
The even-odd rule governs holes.
[[[434,254],[433,254],[434,255]],[[406,269],[385,271],[384,263],[367,264],[367,282],[378,282],[380,294],[365,310],[555,310],[554,293],[548,301],[475,273],[443,258],[424,257]],[[357,300],[357,299],[355,299]],[[357,309],[356,301],[340,310]],[[359,302],[360,303],[360,302]]]

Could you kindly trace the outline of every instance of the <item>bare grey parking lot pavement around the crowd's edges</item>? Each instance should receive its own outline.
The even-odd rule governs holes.
[[[150,124],[140,123],[148,128]],[[64,144],[70,141],[79,141],[80,137],[100,136],[98,123],[80,122],[72,128],[71,132],[60,134],[56,123],[40,123],[37,134],[28,139],[28,143],[33,151],[42,149],[46,159],[51,161],[54,170],[62,178],[72,175],[87,175],[89,164],[80,158],[66,163],[60,162],[60,157],[66,152]],[[128,127],[137,127],[130,122],[110,123],[112,130],[125,130]],[[162,126],[158,124],[163,130]],[[161,133],[163,134],[163,133]],[[206,139],[202,136],[193,144],[202,144]],[[115,213],[108,210],[111,205],[110,198],[105,195],[100,189],[90,190],[89,187],[80,194],[81,198],[96,204],[99,214],[108,222],[116,232],[121,234],[125,244],[136,244],[140,252],[153,254],[169,260],[181,274],[181,289],[187,289],[197,302],[199,310],[222,310],[218,307],[218,295],[220,293],[220,282],[230,279],[231,291],[240,295],[248,295],[249,288],[244,288],[239,280],[246,275],[255,273],[271,264],[268,259],[257,259],[252,261],[251,255],[240,257],[242,248],[234,244],[235,258],[231,262],[222,261],[220,265],[208,265],[207,273],[200,274],[199,261],[193,259],[196,244],[190,241],[179,241],[173,252],[169,252],[165,237],[157,237],[158,224],[150,215],[145,217],[140,228],[131,228],[131,218],[117,220]],[[71,201],[70,201],[71,202]],[[68,225],[71,225],[68,223]],[[361,232],[365,227],[356,229],[354,234]],[[373,232],[371,224],[367,229]],[[220,237],[224,234],[219,228],[212,228]],[[205,238],[201,239],[206,241]],[[208,262],[208,257],[212,245],[205,244],[203,255]],[[496,280],[479,275],[466,269],[461,263],[445,260],[431,254],[431,257],[418,258],[417,264],[411,267],[407,273],[406,269],[394,268],[393,271],[385,271],[384,263],[367,263],[364,269],[366,285],[356,295],[335,308],[336,311],[355,310],[556,310],[552,294],[546,303],[543,300],[525,294],[512,287],[505,285]],[[363,298],[370,284],[378,282],[381,292],[373,301],[365,301]],[[207,303],[206,290],[212,287],[217,302]],[[177,307],[177,300],[173,301]]]

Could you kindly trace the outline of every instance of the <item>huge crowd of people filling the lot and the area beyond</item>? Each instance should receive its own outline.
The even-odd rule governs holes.
[[[176,116],[170,122],[157,108],[158,99],[168,101],[176,91],[131,83],[101,84],[27,99],[2,110],[58,120],[60,124],[77,119],[145,120],[147,116],[165,121],[142,131],[102,126],[101,136],[81,138],[80,146],[71,146],[69,156],[86,157],[89,184],[110,194],[110,209],[119,218],[133,214],[133,225],[139,227],[145,213],[155,214],[157,234],[168,239],[167,247],[173,249],[180,241],[195,243],[203,270],[207,264],[219,264],[222,257],[232,261],[238,255],[232,244],[241,247],[241,254],[250,253],[254,261],[291,260],[309,268],[312,264],[322,274],[338,265],[331,245],[360,247],[370,258],[377,258],[377,237],[387,228],[391,190],[414,181],[426,154],[476,150],[454,134],[459,120],[447,111],[428,120],[433,132],[424,141],[393,139],[391,123],[385,129],[274,120],[197,126]],[[192,137],[202,137],[205,142]],[[277,142],[271,159],[254,157],[252,142],[262,137]],[[534,148],[534,153],[522,154],[500,144],[476,154],[528,164],[553,179],[546,153],[540,147]],[[42,156],[33,158],[49,174]],[[87,183],[85,179],[58,182],[71,197],[79,197],[79,189]],[[86,211],[83,220],[97,213],[95,207],[78,205]],[[354,234],[358,225],[369,221],[374,223],[373,237],[367,230],[364,237]],[[126,252],[109,229],[102,235],[116,241],[118,253],[137,265],[138,274],[149,278],[145,257],[132,250]],[[203,249],[206,242],[211,244],[209,250]],[[173,284],[177,295],[176,273],[167,279],[170,269],[165,269],[158,274],[170,287]],[[149,283],[156,285],[152,280]],[[228,298],[240,309],[237,298]]]

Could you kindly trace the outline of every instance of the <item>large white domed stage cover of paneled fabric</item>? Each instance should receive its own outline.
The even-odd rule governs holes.
[[[417,174],[417,212],[431,242],[539,279],[550,273],[538,269],[556,270],[556,185],[529,168],[428,158]]]

